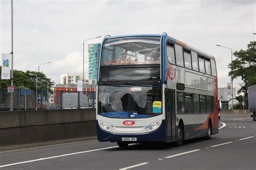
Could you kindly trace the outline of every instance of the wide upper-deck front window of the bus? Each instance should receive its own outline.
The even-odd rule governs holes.
[[[101,65],[160,64],[160,37],[122,37],[107,39]]]

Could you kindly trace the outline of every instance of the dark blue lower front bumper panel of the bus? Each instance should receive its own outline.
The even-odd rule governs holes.
[[[98,141],[122,141],[123,137],[135,137],[137,141],[132,141],[131,143],[144,143],[144,142],[166,142],[166,127],[165,120],[162,121],[160,127],[153,132],[146,134],[111,134],[109,132],[103,131],[99,128],[97,123],[97,135]]]

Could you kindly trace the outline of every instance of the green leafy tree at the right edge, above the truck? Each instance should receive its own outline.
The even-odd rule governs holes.
[[[245,103],[246,108],[248,107],[248,87],[256,84],[256,41],[251,41],[247,45],[248,49],[240,51],[235,51],[234,56],[236,57],[228,67],[231,71],[228,73],[229,76],[232,76],[231,79],[236,79],[241,77],[242,83],[240,83],[241,88],[238,90],[238,93],[245,93]]]

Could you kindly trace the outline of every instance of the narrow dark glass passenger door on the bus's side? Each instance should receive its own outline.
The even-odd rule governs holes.
[[[176,139],[175,98],[175,90],[165,89],[165,121],[167,141],[174,141]]]

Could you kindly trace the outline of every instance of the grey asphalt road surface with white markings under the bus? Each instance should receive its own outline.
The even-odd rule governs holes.
[[[0,152],[0,169],[256,169],[256,122],[222,116],[211,140],[134,144],[97,140]]]

